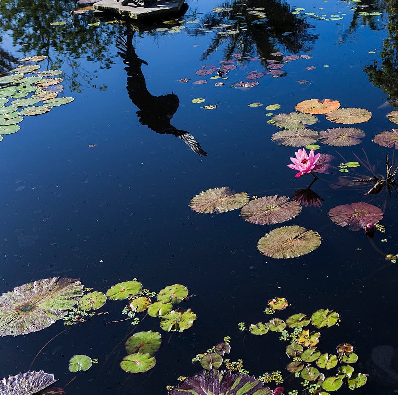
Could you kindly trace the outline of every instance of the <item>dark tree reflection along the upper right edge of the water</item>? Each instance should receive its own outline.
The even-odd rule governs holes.
[[[369,81],[387,94],[388,99],[398,99],[398,0],[389,0],[386,4],[389,17],[387,31],[389,37],[383,41],[380,60],[364,67]]]

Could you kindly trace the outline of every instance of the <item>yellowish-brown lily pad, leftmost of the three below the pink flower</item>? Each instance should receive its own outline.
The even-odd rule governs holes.
[[[210,188],[192,198],[190,207],[193,211],[203,214],[218,214],[241,208],[249,199],[246,192],[236,193],[228,187]]]

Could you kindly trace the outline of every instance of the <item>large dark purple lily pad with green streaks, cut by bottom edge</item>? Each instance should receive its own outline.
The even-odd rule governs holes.
[[[273,391],[254,376],[229,370],[203,370],[168,392],[168,395],[184,394],[273,395]]]

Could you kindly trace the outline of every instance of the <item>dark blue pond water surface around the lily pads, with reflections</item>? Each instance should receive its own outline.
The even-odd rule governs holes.
[[[383,383],[367,362],[374,347],[398,348],[396,265],[385,260],[398,253],[397,194],[364,196],[373,184],[352,187],[341,180],[372,177],[371,172],[362,164],[340,173],[338,166],[367,157],[385,175],[386,154],[397,166],[394,149],[373,142],[395,127],[386,115],[398,99],[397,2],[189,0],[187,5],[176,24],[184,29],[172,34],[165,30],[172,25],[159,22],[126,35],[125,24],[95,19],[91,11],[70,16],[78,7],[72,1],[1,1],[2,72],[19,58],[46,55],[40,70],[62,70],[60,96],[75,98],[47,114],[24,117],[21,129],[4,135],[0,144],[1,294],[57,276],[102,292],[138,278],[155,292],[186,285],[192,297],[181,307],[197,315],[182,333],[162,331],[157,364],[146,373],[120,369],[122,340],[134,329],[129,321],[109,323],[125,318],[120,301],[108,302],[100,310],[108,314],[83,323],[64,327],[61,320],[39,332],[1,337],[1,377],[42,369],[54,373],[67,394],[167,394],[166,385],[176,385],[178,376],[200,370],[191,358],[227,335],[231,359],[242,358],[252,374],[281,370],[287,376],[289,360],[278,334],[257,337],[238,329],[239,322],[268,320],[263,310],[278,296],[291,303],[276,315],[284,319],[320,308],[338,311],[341,323],[325,330],[320,348],[332,353],[339,343],[353,344],[362,364],[358,370],[370,374],[356,393],[393,394],[398,381]],[[215,7],[232,10],[214,12]],[[257,12],[266,17],[247,14],[247,8],[264,8]],[[50,25],[57,21],[66,24]],[[95,22],[100,24],[89,25]],[[227,33],[218,34],[222,31]],[[117,48],[120,37],[128,40],[125,58]],[[271,55],[277,52],[283,55]],[[301,57],[274,69],[283,74],[247,79],[250,72],[270,70],[266,59],[288,55]],[[212,65],[218,70],[225,60],[236,66],[223,75],[227,79],[211,79],[216,71],[195,74]],[[201,79],[207,83],[193,84]],[[220,81],[223,86],[214,85]],[[231,87],[240,81],[258,85]],[[196,98],[205,101],[192,103]],[[205,215],[190,209],[191,198],[209,188],[227,186],[250,197],[290,197],[306,188],[313,177],[295,178],[287,167],[297,147],[272,141],[278,129],[267,121],[308,99],[338,100],[342,108],[372,113],[354,125],[316,115],[319,121],[309,126],[318,132],[346,126],[365,132],[357,145],[318,143],[316,152],[336,158],[331,172],[318,174],[312,187],[324,199],[321,207],[303,206],[281,225],[245,222],[239,210]],[[262,106],[248,106],[254,102]],[[280,108],[265,109],[271,104]],[[352,231],[329,219],[331,208],[353,202],[382,209],[385,232],[368,239],[363,229]],[[258,252],[260,237],[289,225],[315,230],[322,243],[297,258]],[[146,317],[136,330],[161,331],[159,320]],[[68,361],[75,354],[97,358],[98,364],[71,373]],[[381,390],[381,384],[389,386]]]

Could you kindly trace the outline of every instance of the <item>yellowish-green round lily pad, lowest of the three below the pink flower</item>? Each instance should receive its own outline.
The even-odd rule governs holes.
[[[271,258],[296,258],[315,250],[322,239],[319,233],[302,226],[283,226],[263,236],[258,250]]]

